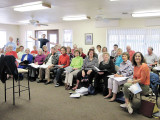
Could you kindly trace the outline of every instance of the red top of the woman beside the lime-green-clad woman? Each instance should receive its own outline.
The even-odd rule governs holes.
[[[67,54],[62,54],[59,56],[58,65],[64,65],[63,68],[69,66],[70,58]]]

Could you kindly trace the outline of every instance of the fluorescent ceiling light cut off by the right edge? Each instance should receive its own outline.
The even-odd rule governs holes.
[[[156,17],[156,16],[160,16],[160,11],[132,13],[132,17]]]

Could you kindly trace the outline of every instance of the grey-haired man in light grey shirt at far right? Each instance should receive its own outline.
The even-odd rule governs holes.
[[[144,58],[149,67],[157,65],[158,59],[157,56],[153,53],[152,47],[148,47],[148,54],[146,54]]]

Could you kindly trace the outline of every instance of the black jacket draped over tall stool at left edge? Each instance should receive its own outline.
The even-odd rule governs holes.
[[[7,80],[7,74],[13,75],[13,77],[18,79],[18,70],[15,64],[15,57],[12,55],[0,57],[0,79],[3,83]]]

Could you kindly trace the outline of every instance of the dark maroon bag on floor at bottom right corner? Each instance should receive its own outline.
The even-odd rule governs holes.
[[[159,112],[159,109],[154,100],[141,100],[141,106],[139,109],[140,114],[146,117],[152,117],[156,112]]]

